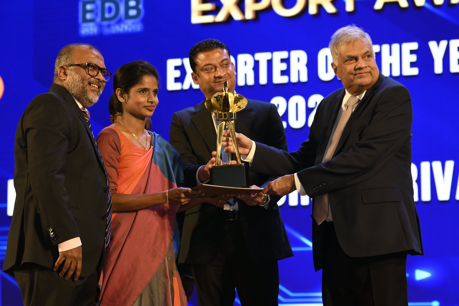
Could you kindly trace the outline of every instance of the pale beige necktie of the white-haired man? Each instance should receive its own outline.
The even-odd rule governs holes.
[[[327,154],[325,155],[325,161],[330,161],[331,157],[335,153],[336,146],[340,141],[341,135],[343,134],[344,127],[346,126],[349,117],[351,117],[352,111],[354,106],[357,104],[358,98],[355,96],[351,96],[346,103],[346,110],[343,111],[341,114],[340,121],[338,121],[338,125],[336,126],[335,133],[331,138],[330,147],[327,150]],[[315,197],[314,206],[313,206],[313,217],[319,225],[320,223],[324,222],[328,215],[328,194],[325,195],[318,195]]]

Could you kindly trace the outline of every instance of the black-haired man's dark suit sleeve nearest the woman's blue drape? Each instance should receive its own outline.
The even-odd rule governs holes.
[[[196,172],[202,165],[198,165],[196,156],[190,145],[190,139],[178,113],[172,115],[171,128],[169,132],[171,145],[177,150],[183,160],[183,173],[186,187],[196,186]]]

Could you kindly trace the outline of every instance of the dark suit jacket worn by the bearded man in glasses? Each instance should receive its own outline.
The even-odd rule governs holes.
[[[65,88],[52,84],[30,102],[14,149],[16,202],[4,271],[26,262],[52,268],[57,244],[79,236],[81,276],[89,276],[105,247],[107,178],[90,128]]]

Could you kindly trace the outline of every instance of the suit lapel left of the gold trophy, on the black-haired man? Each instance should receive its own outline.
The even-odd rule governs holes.
[[[204,139],[207,145],[207,152],[215,151],[217,149],[217,133],[213,128],[212,115],[204,105],[204,101],[196,106],[195,114],[191,117],[191,121],[196,126],[202,139]]]

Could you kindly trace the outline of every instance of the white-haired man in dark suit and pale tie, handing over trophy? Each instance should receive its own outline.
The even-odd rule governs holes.
[[[406,306],[406,256],[423,253],[411,177],[411,98],[379,72],[361,28],[337,30],[330,50],[344,88],[319,104],[298,151],[256,143],[251,169],[288,174],[264,188],[267,194],[297,189],[313,198],[313,258],[323,269],[325,306]],[[237,139],[241,154],[249,154],[252,141]]]

